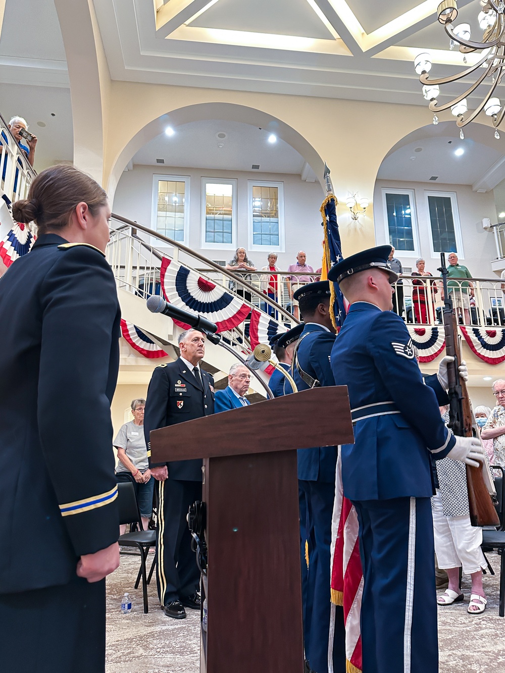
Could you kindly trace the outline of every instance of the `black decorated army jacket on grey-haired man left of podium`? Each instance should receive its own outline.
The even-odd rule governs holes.
[[[214,380],[200,367],[203,390],[193,371],[178,357],[175,362],[154,369],[147,388],[144,412],[144,436],[150,467],[168,466],[168,479],[201,481],[201,460],[174,460],[151,463],[149,433],[167,425],[193,421],[214,413]],[[202,437],[205,441],[205,437]]]

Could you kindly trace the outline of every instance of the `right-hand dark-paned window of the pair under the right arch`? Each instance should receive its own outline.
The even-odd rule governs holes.
[[[457,252],[463,256],[455,192],[426,192],[432,252]]]

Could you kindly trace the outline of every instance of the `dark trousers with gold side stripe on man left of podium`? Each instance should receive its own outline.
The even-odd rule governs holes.
[[[200,571],[191,549],[187,513],[201,500],[201,482],[166,479],[158,481],[158,527],[156,580],[162,606],[191,596],[199,589]]]

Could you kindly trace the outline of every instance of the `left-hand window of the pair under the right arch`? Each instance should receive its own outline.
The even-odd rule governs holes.
[[[383,189],[382,201],[386,214],[386,240],[400,254],[417,254],[413,190]]]

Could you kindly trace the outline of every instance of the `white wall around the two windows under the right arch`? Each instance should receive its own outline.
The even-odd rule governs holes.
[[[465,184],[431,184],[429,182],[407,182],[403,180],[377,180],[374,188],[374,219],[377,245],[389,243],[386,238],[386,213],[382,202],[382,188],[411,189],[415,192],[415,210],[419,227],[420,257],[426,259],[426,270],[433,275],[440,266],[440,255],[433,254],[430,247],[428,230],[430,227],[430,213],[426,191],[456,192],[463,239],[463,254],[458,254],[460,264],[468,267],[475,278],[494,278],[496,274],[491,269],[491,261],[496,258],[494,234],[485,232],[482,228],[483,217],[489,217],[496,222],[496,206],[493,192],[478,194],[471,186]],[[417,256],[402,256],[397,251],[395,256],[407,267],[415,271]]]

